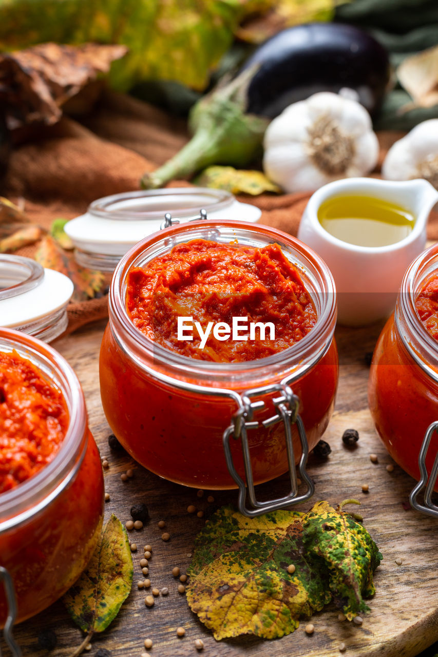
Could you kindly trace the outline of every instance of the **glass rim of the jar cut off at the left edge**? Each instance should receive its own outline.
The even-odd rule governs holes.
[[[69,422],[52,461],[28,480],[0,493],[0,534],[32,517],[61,493],[78,471],[87,447],[84,393],[72,367],[44,342],[11,328],[0,328],[0,351],[5,348],[18,351],[45,376],[55,373],[55,384],[68,407]]]

